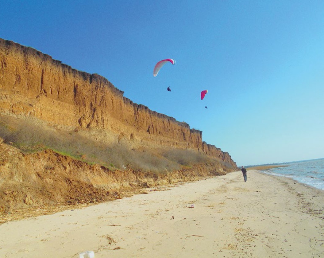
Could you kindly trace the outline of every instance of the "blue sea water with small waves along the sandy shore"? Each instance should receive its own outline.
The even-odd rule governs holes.
[[[300,183],[324,190],[324,158],[282,165],[284,167],[271,168],[261,172],[274,176],[290,177]]]

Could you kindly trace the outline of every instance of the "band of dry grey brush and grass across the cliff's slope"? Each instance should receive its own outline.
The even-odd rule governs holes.
[[[140,170],[165,173],[207,162],[216,162],[194,150],[160,149],[136,150],[126,141],[107,144],[94,141],[75,131],[64,131],[44,127],[23,119],[0,117],[0,137],[21,152],[35,153],[51,149],[56,153],[72,157],[90,165],[98,164],[110,169]]]

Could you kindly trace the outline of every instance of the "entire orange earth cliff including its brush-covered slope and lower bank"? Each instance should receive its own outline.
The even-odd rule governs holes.
[[[236,169],[104,77],[0,39],[0,223]]]

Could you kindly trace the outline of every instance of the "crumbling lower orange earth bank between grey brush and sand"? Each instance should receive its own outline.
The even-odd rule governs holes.
[[[52,150],[23,154],[0,138],[0,214],[28,207],[96,203],[121,198],[125,191],[223,175],[221,164],[197,164],[167,174],[88,165]]]

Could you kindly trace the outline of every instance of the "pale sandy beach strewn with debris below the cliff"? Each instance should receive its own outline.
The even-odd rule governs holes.
[[[238,171],[143,191],[4,223],[0,257],[324,257],[324,191],[290,178]]]

